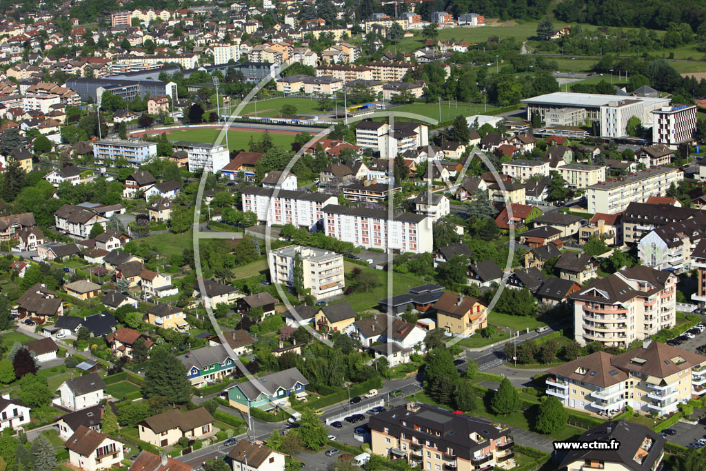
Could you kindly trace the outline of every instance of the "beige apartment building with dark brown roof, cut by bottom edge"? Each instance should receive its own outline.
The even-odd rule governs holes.
[[[406,459],[420,470],[513,467],[514,441],[501,424],[423,403],[407,403],[370,417],[371,451]]]

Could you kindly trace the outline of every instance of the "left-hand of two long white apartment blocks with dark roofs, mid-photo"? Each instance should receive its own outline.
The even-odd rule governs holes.
[[[243,211],[251,211],[266,225],[293,224],[312,229],[323,221],[323,208],[338,198],[325,193],[307,193],[259,186],[241,189]]]

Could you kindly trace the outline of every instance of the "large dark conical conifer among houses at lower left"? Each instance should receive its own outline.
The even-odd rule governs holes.
[[[145,371],[142,393],[146,398],[162,395],[171,404],[185,404],[191,397],[186,366],[164,348],[155,348]]]

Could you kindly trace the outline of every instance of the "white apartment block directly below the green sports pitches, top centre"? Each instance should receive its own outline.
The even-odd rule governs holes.
[[[383,158],[429,145],[429,129],[424,124],[395,122],[391,129],[387,123],[366,119],[355,128],[357,145],[379,152]]]

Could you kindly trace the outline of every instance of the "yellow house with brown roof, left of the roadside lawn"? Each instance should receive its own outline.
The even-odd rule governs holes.
[[[468,336],[488,325],[486,306],[478,299],[445,292],[433,304],[436,327],[454,335]]]

